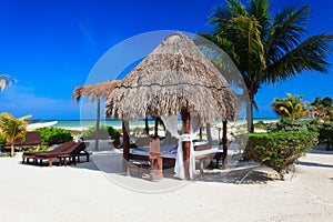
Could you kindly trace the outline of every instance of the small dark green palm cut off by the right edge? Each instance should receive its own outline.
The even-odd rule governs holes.
[[[313,118],[321,120],[333,120],[333,100],[330,97],[315,98],[311,103],[311,110]]]

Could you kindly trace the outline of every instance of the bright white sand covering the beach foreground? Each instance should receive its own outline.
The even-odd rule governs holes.
[[[254,165],[255,171],[238,184],[238,176],[251,168],[245,165],[244,172],[243,168],[224,174],[213,171],[185,185],[172,178],[150,182],[137,178],[135,171],[125,176],[114,161],[119,155],[93,153],[95,164],[67,168],[26,165],[20,158],[0,158],[0,221],[327,222],[333,218],[332,152],[302,159],[292,180],[268,181],[262,172],[272,171]],[[113,180],[148,189],[164,184],[181,188],[147,194]]]

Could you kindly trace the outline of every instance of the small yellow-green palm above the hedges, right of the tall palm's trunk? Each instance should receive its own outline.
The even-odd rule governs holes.
[[[271,105],[273,112],[283,118],[290,118],[291,120],[297,120],[302,117],[309,115],[309,110],[305,107],[309,102],[302,102],[302,95],[293,95],[286,93],[286,98],[275,98]]]

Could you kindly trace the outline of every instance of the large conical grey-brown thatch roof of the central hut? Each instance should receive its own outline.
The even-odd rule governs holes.
[[[202,122],[234,120],[240,112],[226,80],[182,33],[165,38],[108,95],[105,115],[137,120],[185,109]]]

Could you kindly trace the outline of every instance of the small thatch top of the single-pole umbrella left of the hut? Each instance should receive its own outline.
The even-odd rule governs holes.
[[[81,97],[87,97],[90,100],[94,98],[101,99],[111,93],[120,82],[121,80],[109,80],[101,83],[78,87],[73,92],[72,101],[79,101]]]

